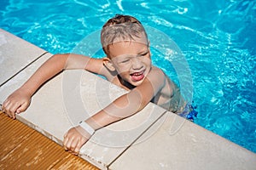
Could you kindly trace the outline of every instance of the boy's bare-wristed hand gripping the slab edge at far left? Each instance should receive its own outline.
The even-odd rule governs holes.
[[[31,96],[26,94],[21,89],[18,89],[13,94],[10,94],[9,97],[3,102],[2,111],[11,118],[15,119],[15,113],[26,111],[30,101]]]

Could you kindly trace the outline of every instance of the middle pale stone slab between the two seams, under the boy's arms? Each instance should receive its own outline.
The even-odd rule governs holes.
[[[0,101],[26,82],[50,54],[44,55],[0,88]],[[45,83],[32,97],[29,108],[17,118],[62,144],[70,127],[109,105],[113,99],[127,93],[88,71],[64,71]],[[107,168],[165,110],[149,104],[143,111],[98,130],[84,144],[80,156],[101,169]],[[63,150],[64,151],[64,150]]]

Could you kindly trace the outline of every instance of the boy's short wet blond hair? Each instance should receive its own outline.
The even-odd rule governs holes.
[[[135,37],[146,37],[147,33],[139,20],[130,16],[116,14],[102,27],[101,42],[105,54],[108,54],[108,45],[113,42],[134,41]]]

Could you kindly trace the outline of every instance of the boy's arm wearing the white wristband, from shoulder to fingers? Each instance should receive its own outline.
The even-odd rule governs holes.
[[[102,111],[91,116],[85,122],[93,129],[105,127],[118,122],[125,117],[141,111],[166,83],[166,77],[160,69],[154,68],[140,86],[132,89],[128,94],[115,99]],[[90,139],[90,134],[80,126],[71,128],[64,136],[64,148],[73,154],[78,154],[82,145]]]

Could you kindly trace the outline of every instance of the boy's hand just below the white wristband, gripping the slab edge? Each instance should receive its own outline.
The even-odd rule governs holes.
[[[81,147],[90,139],[90,134],[83,127],[72,127],[64,135],[63,146],[73,155],[79,155]]]

